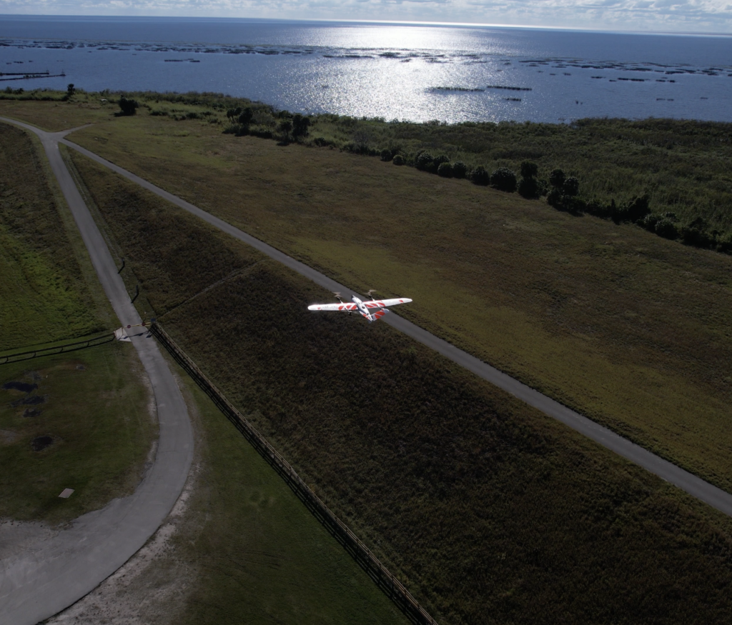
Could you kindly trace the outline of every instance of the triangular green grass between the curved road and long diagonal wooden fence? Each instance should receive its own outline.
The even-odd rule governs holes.
[[[193,403],[199,472],[173,538],[173,557],[195,572],[175,622],[406,623],[212,401],[179,375]]]

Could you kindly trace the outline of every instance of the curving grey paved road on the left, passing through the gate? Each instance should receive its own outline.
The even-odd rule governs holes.
[[[0,121],[40,137],[119,321],[124,326],[141,323],[108,247],[61,159],[59,140],[71,131],[42,132],[12,119]],[[193,430],[185,402],[155,340],[141,334],[132,337],[132,344],[149,375],[157,404],[160,438],[154,464],[129,497],[114,499],[105,508],[74,520],[70,528],[0,561],[3,625],[34,625],[81,599],[145,544],[183,490],[193,460]]]

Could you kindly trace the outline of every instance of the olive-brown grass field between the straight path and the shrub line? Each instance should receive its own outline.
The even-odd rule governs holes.
[[[732,488],[727,255],[195,120],[72,138],[361,292],[411,296],[399,314]]]

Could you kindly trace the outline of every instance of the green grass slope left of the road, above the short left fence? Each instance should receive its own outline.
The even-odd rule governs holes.
[[[44,160],[25,132],[2,124],[1,351],[111,327],[110,307],[89,287],[84,270],[88,271],[86,266],[91,263],[88,258],[79,258],[83,244],[75,240],[78,235],[75,239],[69,236],[68,229],[75,226],[58,208]]]

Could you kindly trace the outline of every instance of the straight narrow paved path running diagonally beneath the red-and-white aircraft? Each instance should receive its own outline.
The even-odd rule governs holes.
[[[91,158],[101,165],[105,165],[105,167],[110,168],[112,171],[116,171],[116,173],[119,173],[125,178],[139,184],[141,187],[152,191],[156,195],[160,195],[161,198],[164,198],[187,212],[194,214],[196,217],[201,217],[202,220],[209,222],[219,230],[231,234],[231,236],[236,237],[236,239],[239,239],[244,243],[250,244],[252,247],[255,247],[260,252],[269,256],[269,258],[273,258],[275,261],[283,263],[290,269],[294,269],[297,273],[310,278],[310,280],[313,280],[313,282],[321,285],[329,291],[340,291],[340,293],[344,293],[344,295],[346,293],[353,293],[350,288],[335,282],[335,280],[331,280],[320,272],[316,272],[312,267],[296,261],[294,258],[290,258],[288,255],[280,252],[280,250],[276,250],[274,247],[267,245],[259,239],[255,239],[255,237],[245,233],[244,231],[239,230],[239,228],[235,228],[230,223],[220,220],[218,217],[214,217],[212,214],[199,209],[198,206],[193,206],[193,204],[176,197],[176,195],[173,195],[160,187],[156,187],[154,184],[142,179],[140,176],[135,176],[134,173],[114,165],[114,163],[103,159],[97,154],[94,154],[94,152],[84,149],[70,141],[62,140],[61,142],[70,148],[81,152],[84,156]],[[409,293],[402,294],[408,295]],[[305,307],[305,303],[303,303],[303,306]],[[303,314],[305,314],[305,308],[303,309]],[[567,406],[550,399],[550,397],[547,397],[534,389],[531,389],[531,387],[526,386],[526,384],[520,383],[509,375],[491,367],[490,364],[482,362],[475,356],[471,356],[469,353],[456,348],[455,345],[451,345],[450,343],[447,343],[447,341],[430,334],[430,332],[416,326],[410,321],[406,321],[406,319],[392,314],[386,315],[386,317],[383,318],[383,321],[419,341],[419,343],[427,345],[427,347],[441,353],[443,356],[459,364],[461,367],[465,367],[468,371],[478,375],[480,378],[495,384],[499,388],[504,389],[504,391],[518,397],[518,399],[534,406],[534,408],[538,408],[548,416],[561,421],[565,425],[571,427],[572,430],[577,430],[580,434],[591,438],[596,443],[610,449],[610,451],[621,455],[632,463],[641,465],[643,468],[651,471],[651,473],[665,479],[666,482],[671,482],[671,484],[685,490],[690,495],[701,499],[701,501],[706,502],[728,516],[732,516],[732,495],[730,495],[730,493],[726,493],[724,490],[709,484],[709,482],[705,482],[703,479],[690,474],[688,471],[684,471],[684,469],[673,465],[668,462],[668,460],[663,460],[661,457],[643,449],[643,447],[631,443],[627,439],[622,438],[611,430],[608,430],[607,427],[602,427],[594,421],[591,421],[591,419],[588,419],[586,416],[582,416],[579,413],[570,410]]]

